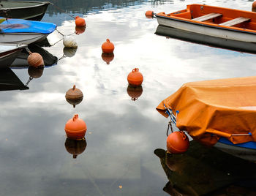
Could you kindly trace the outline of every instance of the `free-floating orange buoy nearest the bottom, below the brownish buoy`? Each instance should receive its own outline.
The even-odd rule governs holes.
[[[70,118],[65,125],[65,132],[67,137],[72,140],[81,140],[86,135],[86,123],[81,118],[78,118],[78,114],[75,114],[73,118]]]

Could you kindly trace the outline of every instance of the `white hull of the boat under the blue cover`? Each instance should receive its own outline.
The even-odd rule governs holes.
[[[33,42],[39,42],[45,39],[48,34],[18,33],[18,34],[0,34],[0,43],[24,44],[29,45]]]

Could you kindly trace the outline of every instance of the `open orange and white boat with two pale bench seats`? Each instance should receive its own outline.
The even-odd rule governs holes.
[[[241,42],[256,42],[256,12],[189,4],[187,9],[155,14],[161,26]]]

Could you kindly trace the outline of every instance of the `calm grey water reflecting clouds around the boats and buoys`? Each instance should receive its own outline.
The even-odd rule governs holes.
[[[157,20],[144,15],[146,10],[174,12],[187,4],[206,1],[53,3],[60,8],[50,5],[42,21],[56,23],[62,34],[72,34],[78,50],[67,52],[59,41],[61,34],[50,34],[48,41],[53,46],[44,49],[60,59],[58,63],[38,75],[27,68],[12,69],[24,84],[31,76],[29,89],[0,91],[0,195],[178,195],[186,193],[177,188],[184,184],[190,184],[186,186],[190,190],[187,195],[203,194],[198,184],[200,190],[217,191],[219,195],[255,193],[241,184],[207,186],[212,182],[208,176],[214,176],[216,168],[211,170],[209,162],[195,164],[201,159],[190,157],[187,162],[191,165],[178,164],[182,169],[173,171],[175,178],[168,176],[171,171],[165,167],[165,151],[161,149],[166,146],[168,119],[155,110],[159,102],[183,83],[256,74],[255,55],[157,36]],[[252,7],[252,1],[246,0],[212,0],[207,4],[241,10]],[[83,16],[86,31],[73,34],[75,20],[61,10]],[[103,61],[101,50],[107,38],[115,45],[109,64]],[[140,97],[133,101],[129,89],[127,92],[127,75],[135,67],[144,81]],[[65,99],[74,84],[84,96],[75,108]],[[88,127],[86,141],[76,144],[67,140],[64,132],[75,113]],[[73,159],[72,154],[78,157]],[[250,176],[248,171],[255,175],[255,167],[249,163],[230,159],[240,167],[218,170],[219,182],[227,181],[223,176],[241,168],[248,170],[244,175],[238,173],[237,178]],[[226,160],[223,158],[220,165],[230,164]],[[201,176],[189,173],[195,168],[201,168]],[[228,180],[233,184],[233,178]],[[168,191],[170,184],[175,191]]]

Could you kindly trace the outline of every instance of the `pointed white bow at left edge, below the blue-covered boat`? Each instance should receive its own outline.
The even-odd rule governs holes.
[[[0,44],[0,68],[8,67],[27,45]]]

